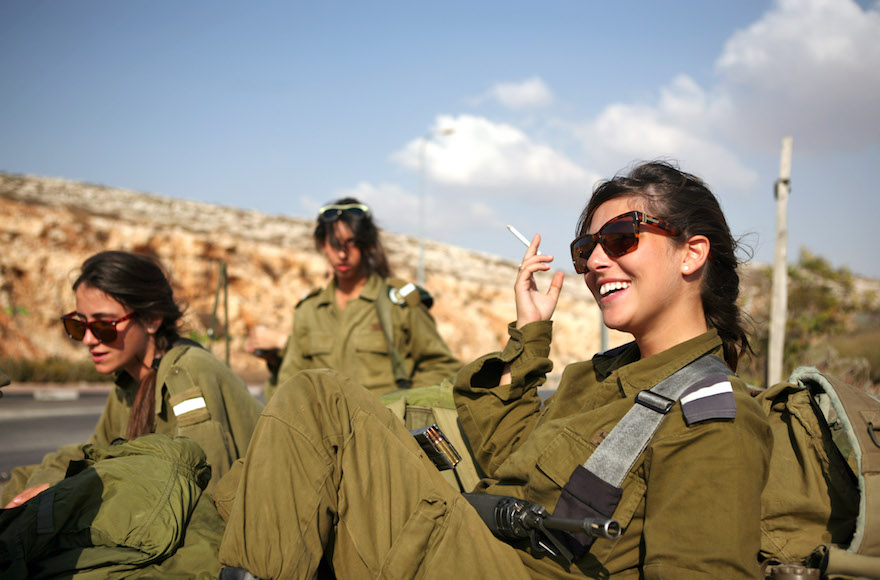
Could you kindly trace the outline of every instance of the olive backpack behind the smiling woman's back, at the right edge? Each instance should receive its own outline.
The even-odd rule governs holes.
[[[880,579],[880,400],[813,367],[756,400],[774,440],[761,497],[765,572]]]

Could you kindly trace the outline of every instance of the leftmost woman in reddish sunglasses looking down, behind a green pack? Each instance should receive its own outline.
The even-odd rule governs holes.
[[[116,377],[88,442],[147,433],[189,437],[207,456],[211,483],[218,481],[244,455],[262,404],[225,364],[180,337],[182,312],[160,264],[101,252],[83,263],[73,290],[76,310],[61,318],[64,329],[88,348],[99,372]],[[18,505],[63,479],[68,463],[82,459],[81,448],[66,446],[39,466],[14,470],[2,505]]]

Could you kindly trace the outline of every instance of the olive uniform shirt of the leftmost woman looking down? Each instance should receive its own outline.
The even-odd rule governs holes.
[[[138,383],[125,371],[87,443],[109,445],[128,434],[128,420]],[[262,404],[225,364],[196,343],[181,340],[162,357],[156,375],[155,433],[189,437],[204,450],[211,466],[211,486],[232,462],[244,455]],[[71,459],[82,459],[82,444],[67,445],[38,466],[13,471],[3,488],[3,505],[25,489],[64,478]]]

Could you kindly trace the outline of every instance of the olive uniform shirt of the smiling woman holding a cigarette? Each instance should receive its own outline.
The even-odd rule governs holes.
[[[551,328],[549,321],[520,330],[511,325],[503,352],[458,374],[455,398],[475,459],[490,476],[477,489],[552,512],[575,467],[632,407],[634,396],[705,354],[719,354],[721,340],[712,330],[642,360],[631,343],[611,356],[569,365],[542,407],[537,387],[552,368]],[[507,364],[512,382],[498,386]],[[613,517],[623,534],[597,539],[564,576],[759,577],[770,431],[743,381],[728,378],[733,397],[714,416],[703,412],[688,424],[682,404],[673,406],[621,485]],[[559,576],[550,559],[523,561],[535,576]]]

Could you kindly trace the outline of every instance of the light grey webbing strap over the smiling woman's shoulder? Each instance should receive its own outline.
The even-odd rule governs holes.
[[[626,474],[660,427],[666,413],[682,393],[714,373],[730,373],[730,368],[715,355],[701,357],[636,395],[636,404],[614,426],[584,463],[584,468],[603,481],[620,487]]]

